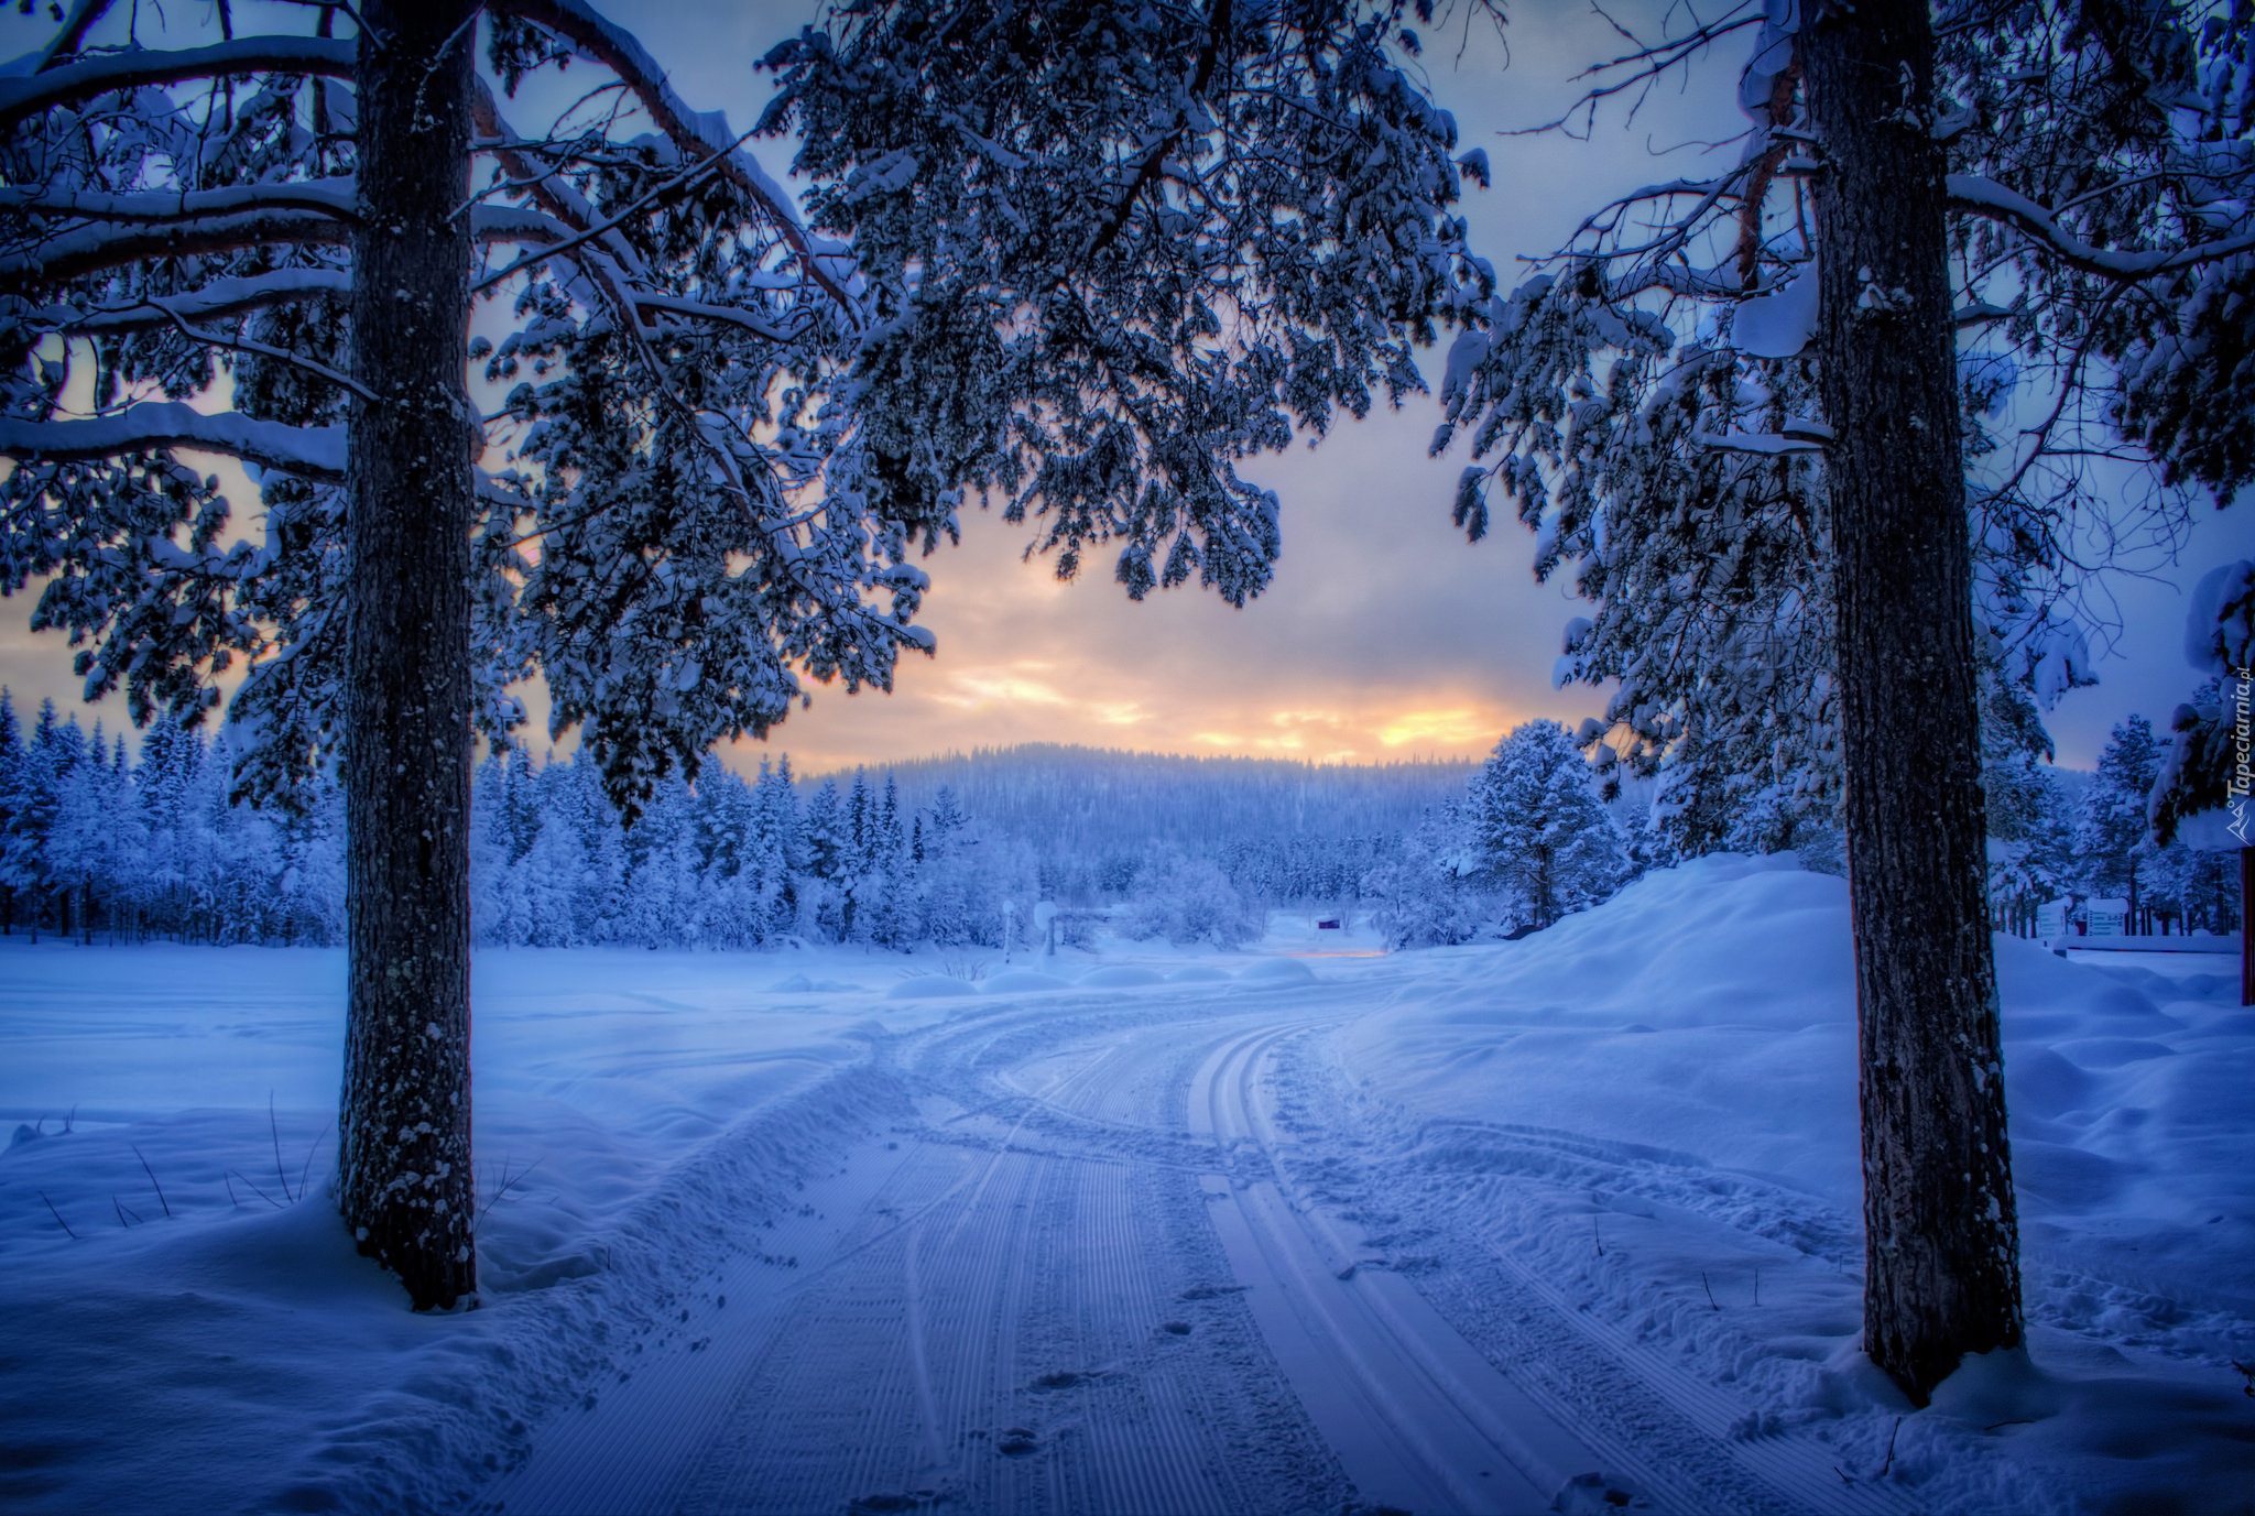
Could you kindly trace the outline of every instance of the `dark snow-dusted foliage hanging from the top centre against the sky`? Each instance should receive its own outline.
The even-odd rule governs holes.
[[[1405,9],[850,0],[769,54],[762,126],[873,282],[870,453],[927,521],[974,487],[1064,578],[1116,544],[1134,598],[1270,582],[1236,460],[1421,388],[1412,343],[1491,277]]]

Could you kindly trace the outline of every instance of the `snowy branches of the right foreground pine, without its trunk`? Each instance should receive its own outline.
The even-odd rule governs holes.
[[[1768,14],[1763,25],[1795,11]],[[1750,25],[1754,14],[1732,18]],[[2255,147],[2230,88],[2246,23],[2194,25],[2174,9],[2154,25],[2126,11],[2115,20],[2077,32],[2030,11],[1942,43],[1946,104],[1957,102],[1935,111],[1937,124],[1948,117],[1944,183],[1962,248],[1955,320],[1969,345],[1960,377],[1978,609],[2002,638],[2005,677],[2043,706],[2088,679],[2070,625],[2084,573],[2070,523],[2106,519],[2133,541],[2167,535],[2181,510],[2165,494],[2124,505],[2093,487],[2093,447],[2126,435],[2165,485],[2203,483],[2219,499],[2255,476],[2255,429],[2244,424],[2255,390],[2241,361],[2255,309]],[[1642,79],[1637,70],[1669,68],[1705,41],[1705,29],[1684,32],[1597,72]],[[1763,456],[1779,467],[1795,453],[1820,460],[1831,433],[1802,356],[1818,307],[1806,196],[1772,180],[1754,201],[1757,160],[1811,140],[1795,97],[1777,102],[1790,50],[1790,25],[1757,38],[1766,63],[1750,63],[1741,88],[1750,131],[1734,169],[1610,201],[1533,280],[1488,305],[1486,329],[1452,354],[1436,435],[1439,447],[1470,433],[1479,460],[1459,490],[1459,523],[1484,532],[1500,490],[1536,530],[1538,573],[1576,564],[1597,609],[1567,668],[1619,681],[1610,733],[1633,769],[1651,772],[1662,753],[1709,769],[1684,774],[1689,790],[1741,785],[1745,765],[1770,774],[1781,758],[1795,774],[1786,812],[1725,808],[1725,832],[1684,832],[1700,846],[1748,846],[1775,835],[1777,814],[1822,823],[1838,799],[1822,778],[1829,695],[1799,684],[1799,697],[1779,699],[1786,686],[1772,684],[1793,666],[1806,677],[1824,668],[1824,656],[1779,656],[1779,638],[1829,638],[1831,593],[1809,494],[1818,476],[1781,487],[1781,474],[1759,467]],[[2077,151],[2063,153],[2068,144]],[[2011,408],[2016,393],[2036,397],[2032,424]],[[2023,422],[2018,435],[2007,417]],[[1655,485],[1669,474],[1707,483],[1682,494]],[[1646,546],[1655,537],[1666,550]],[[1691,562],[1714,568],[1682,566]],[[2077,645],[2059,659],[2066,677],[2039,690],[2039,670],[2066,643]],[[1759,699],[1718,702],[1741,686],[1725,647],[1757,656],[1745,679]],[[1795,713],[1818,720],[1802,726]],[[1675,826],[1696,810],[1673,812]]]

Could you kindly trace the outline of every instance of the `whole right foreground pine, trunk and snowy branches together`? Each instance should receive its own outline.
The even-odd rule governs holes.
[[[1822,792],[1838,774],[1865,1347],[1924,1401],[1962,1354],[2020,1340],[1969,611],[2050,697],[2079,661],[2059,614],[2070,510],[2122,539],[2167,523],[2178,487],[2228,501],[2255,474],[2255,370],[2239,361],[2255,309],[2250,23],[2165,0],[1750,0],[1669,18],[1689,29],[1630,47],[1590,108],[1752,34],[1745,151],[1597,210],[1463,341],[1450,422],[1502,458],[1466,474],[1457,512],[1486,521],[1493,474],[1540,553],[1578,559],[1599,611],[1569,638],[1576,672],[1621,679],[1615,740],[1633,753],[1759,751],[1775,731],[1797,783]],[[2034,424],[1969,487],[1980,406],[1953,336],[1982,332],[1989,356],[1971,368],[1993,381],[2009,361]],[[2158,465],[2156,487],[2113,512],[2084,467],[2106,431]],[[1815,465],[1806,499],[1797,456]],[[1712,483],[1660,492],[1684,530],[1655,544],[1635,517],[1653,496],[1612,478],[1671,469]],[[1797,580],[1736,571],[1748,519],[1754,548],[1806,541],[1781,555],[1804,564]],[[1795,647],[1772,706],[1709,693],[1759,688],[1748,647],[1827,620],[1829,656]]]

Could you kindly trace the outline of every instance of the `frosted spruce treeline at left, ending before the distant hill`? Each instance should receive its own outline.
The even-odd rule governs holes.
[[[343,803],[313,776],[289,810],[232,803],[226,735],[158,722],[140,763],[43,702],[23,731],[0,690],[0,929],[81,941],[336,943]],[[658,785],[634,826],[591,763],[487,758],[471,783],[480,943],[760,948],[785,938],[1003,941],[1035,900],[1031,855],[979,837],[940,787],[801,787],[789,760],[744,781]]]

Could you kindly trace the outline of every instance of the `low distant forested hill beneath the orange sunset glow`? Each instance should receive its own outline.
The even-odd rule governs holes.
[[[1463,799],[1479,765],[1321,765],[1028,742],[888,772],[911,810],[927,810],[947,787],[997,835],[1100,855],[1152,844],[1213,853],[1229,841],[1405,835],[1427,810]],[[843,787],[852,776],[837,778]]]

